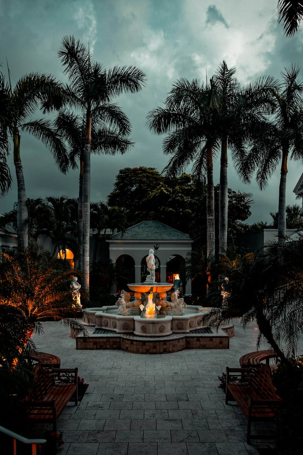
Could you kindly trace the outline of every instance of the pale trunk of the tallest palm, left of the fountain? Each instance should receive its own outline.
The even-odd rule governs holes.
[[[90,143],[91,116],[87,116],[83,167],[83,279],[82,288],[89,300],[89,227],[90,227]]]

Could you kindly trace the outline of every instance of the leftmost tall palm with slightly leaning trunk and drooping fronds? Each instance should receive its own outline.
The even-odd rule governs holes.
[[[9,73],[10,74],[10,73]],[[50,120],[28,120],[37,108],[43,113],[60,107],[64,99],[64,91],[52,76],[31,73],[16,82],[14,88],[10,84],[7,110],[9,115],[3,122],[5,129],[13,139],[14,163],[18,186],[17,233],[18,242],[25,248],[28,245],[28,212],[23,168],[20,157],[20,131],[26,131],[41,140],[50,149],[61,172],[66,172],[68,159],[65,146],[60,137],[51,127]]]

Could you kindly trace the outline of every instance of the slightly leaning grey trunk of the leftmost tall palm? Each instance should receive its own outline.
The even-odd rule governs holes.
[[[18,187],[18,207],[17,207],[17,235],[18,243],[24,248],[27,248],[29,238],[28,238],[28,211],[26,205],[26,192],[25,192],[25,182],[23,175],[23,168],[20,159],[20,134],[16,130],[14,137],[14,164],[16,170],[16,179]]]

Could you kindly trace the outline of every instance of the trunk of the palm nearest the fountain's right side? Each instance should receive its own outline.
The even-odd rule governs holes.
[[[215,237],[214,237],[214,175],[213,175],[213,147],[209,147],[207,150],[207,195],[206,195],[206,207],[207,207],[207,240],[206,240],[206,255],[208,269],[209,264],[214,262],[214,249],[215,249]],[[209,272],[209,270],[207,271]],[[209,283],[211,281],[211,275],[209,274]],[[207,288],[208,292],[208,288]]]

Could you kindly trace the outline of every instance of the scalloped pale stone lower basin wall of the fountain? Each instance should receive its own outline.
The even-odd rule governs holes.
[[[83,324],[95,327],[96,330],[109,330],[117,334],[134,334],[142,337],[164,337],[167,335],[187,334],[193,330],[207,326],[203,315],[209,308],[191,305],[185,308],[183,315],[158,315],[156,319],[141,318],[138,313],[129,316],[119,316],[118,309],[112,306],[87,308],[83,315]],[[167,312],[168,313],[168,312]]]

